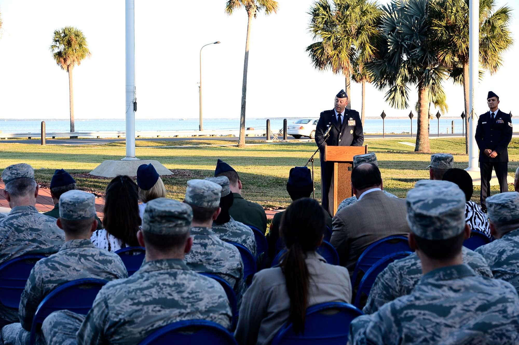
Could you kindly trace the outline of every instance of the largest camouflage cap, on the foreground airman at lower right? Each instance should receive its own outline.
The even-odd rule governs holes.
[[[465,193],[449,181],[421,180],[407,192],[407,223],[418,237],[443,240],[465,229]]]

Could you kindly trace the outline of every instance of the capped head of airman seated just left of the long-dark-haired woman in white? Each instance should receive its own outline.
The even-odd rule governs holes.
[[[71,190],[60,197],[60,222],[68,235],[90,237],[95,220],[95,196],[92,193]]]

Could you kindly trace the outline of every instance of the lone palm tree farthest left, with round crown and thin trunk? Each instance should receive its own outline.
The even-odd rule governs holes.
[[[60,30],[54,30],[50,51],[54,61],[69,73],[69,96],[70,96],[70,131],[74,130],[74,92],[72,88],[72,70],[75,65],[80,65],[85,57],[90,57],[87,39],[83,32],[72,26],[65,26]]]

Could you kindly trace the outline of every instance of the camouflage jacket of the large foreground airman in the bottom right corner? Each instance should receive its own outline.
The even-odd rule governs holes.
[[[350,324],[348,343],[516,344],[519,297],[512,284],[476,276],[468,265],[434,269],[409,295]]]

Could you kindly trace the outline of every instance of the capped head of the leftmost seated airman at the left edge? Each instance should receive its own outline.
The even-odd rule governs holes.
[[[36,192],[34,169],[29,164],[20,163],[9,165],[2,171],[5,191],[11,197],[25,197]]]

